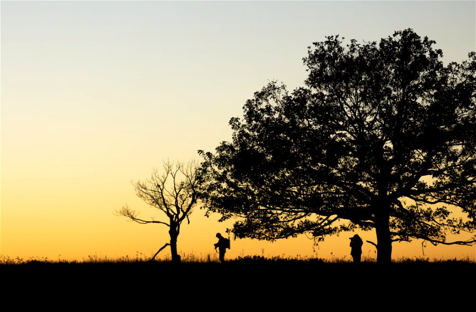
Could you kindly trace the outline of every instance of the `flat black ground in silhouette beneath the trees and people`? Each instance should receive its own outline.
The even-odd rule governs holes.
[[[466,261],[387,266],[318,260],[30,262],[1,264],[0,274],[2,305],[13,300],[61,311],[64,309],[56,306],[60,302],[75,306],[75,311],[164,310],[169,305],[179,311],[222,310],[221,306],[231,311],[296,311],[324,306],[339,311],[354,306],[367,311],[374,307],[380,307],[375,309],[378,311],[431,307],[442,311],[467,310],[463,309],[465,303],[474,305],[476,298],[476,263]]]

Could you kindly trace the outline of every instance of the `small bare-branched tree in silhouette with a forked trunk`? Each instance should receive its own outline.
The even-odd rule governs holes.
[[[188,216],[197,204],[199,183],[196,171],[198,166],[199,164],[195,161],[190,161],[187,164],[165,161],[163,162],[163,171],[154,169],[150,179],[133,183],[137,196],[150,207],[165,214],[163,218],[144,220],[138,217],[138,212],[128,206],[123,206],[117,211],[117,214],[137,223],[157,223],[169,227],[170,242],[159,249],[151,260],[165,247],[170,246],[172,261],[180,261],[180,256],[177,253],[177,238],[180,234],[182,221],[187,219],[187,222],[190,223]]]

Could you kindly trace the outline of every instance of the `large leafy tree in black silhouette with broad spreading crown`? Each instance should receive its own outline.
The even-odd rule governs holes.
[[[231,142],[199,152],[207,211],[238,217],[237,237],[375,229],[379,263],[396,241],[474,243],[446,237],[476,227],[476,53],[444,65],[411,29],[343,40],[314,43],[304,87],[269,83]]]

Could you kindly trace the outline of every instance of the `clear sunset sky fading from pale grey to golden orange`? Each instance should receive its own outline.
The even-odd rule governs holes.
[[[130,181],[163,159],[187,161],[230,140],[231,117],[269,80],[293,90],[313,42],[379,41],[412,28],[444,62],[476,50],[476,1],[0,1],[1,232],[9,257],[150,257],[168,228],[127,222],[123,205],[160,217]],[[180,253],[206,257],[230,223],[196,209]],[[350,258],[350,233],[319,248],[305,236],[232,241],[227,258]],[[375,241],[374,232],[361,234]],[[471,237],[471,235],[469,235]],[[468,238],[468,236],[462,236]],[[375,248],[362,247],[375,258]],[[167,251],[161,253],[170,255]],[[421,241],[393,259],[475,260],[476,248]]]

